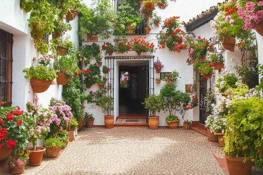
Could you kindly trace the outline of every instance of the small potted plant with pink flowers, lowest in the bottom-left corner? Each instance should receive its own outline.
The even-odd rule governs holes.
[[[9,172],[11,174],[21,174],[25,171],[27,160],[29,159],[30,151],[27,149],[18,152],[14,157],[10,156],[7,160]]]

